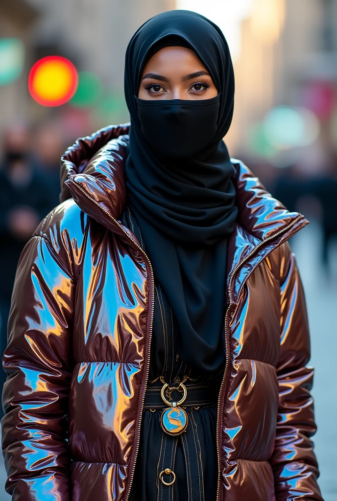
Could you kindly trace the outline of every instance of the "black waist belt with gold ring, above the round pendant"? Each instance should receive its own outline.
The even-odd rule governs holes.
[[[209,384],[187,384],[187,397],[182,407],[199,407],[205,405],[214,405],[218,401],[219,388],[217,385]],[[148,386],[145,392],[144,409],[164,409],[167,405],[162,401],[160,396],[162,385]],[[171,391],[166,394],[171,400],[180,400],[182,394],[178,390]]]

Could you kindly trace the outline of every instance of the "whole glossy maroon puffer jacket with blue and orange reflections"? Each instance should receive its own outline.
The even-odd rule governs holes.
[[[139,449],[153,317],[151,264],[118,220],[128,127],[62,158],[63,203],[22,254],[4,355],[7,491],[15,501],[126,501]],[[221,501],[321,501],[308,324],[287,240],[307,221],[233,160]],[[65,184],[64,184],[65,182]]]

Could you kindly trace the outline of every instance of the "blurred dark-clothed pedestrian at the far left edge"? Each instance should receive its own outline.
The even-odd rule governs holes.
[[[20,254],[41,219],[49,197],[43,177],[30,157],[29,132],[23,125],[10,127],[3,141],[0,168],[0,345],[7,345],[7,320]],[[5,373],[1,371],[1,387]]]

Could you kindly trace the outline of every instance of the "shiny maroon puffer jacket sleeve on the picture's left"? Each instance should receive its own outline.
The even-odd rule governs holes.
[[[45,236],[17,269],[3,363],[6,490],[14,501],[68,501],[67,442],[74,280]]]

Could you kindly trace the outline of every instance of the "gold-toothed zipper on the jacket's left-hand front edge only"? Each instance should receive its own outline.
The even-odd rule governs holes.
[[[150,270],[150,274],[149,274],[150,281],[151,281],[151,292],[150,292],[150,294],[151,294],[152,303],[151,303],[151,311],[150,311],[150,329],[149,329],[149,334],[148,334],[148,357],[147,357],[147,365],[145,367],[145,384],[144,384],[144,387],[146,387],[147,380],[148,380],[149,369],[150,369],[150,347],[151,347],[153,312],[154,312],[154,277],[153,277],[153,270],[152,270],[151,262],[150,262],[150,260],[149,260],[149,258],[147,256],[147,254],[141,248],[141,246],[138,245],[138,243],[128,234],[127,231],[125,231],[125,229],[123,228],[123,226],[117,221],[117,219],[115,219],[110,214],[110,212],[106,208],[102,207],[76,181],[70,180],[70,182],[72,184],[74,184],[76,186],[76,188],[79,189],[89,200],[91,200],[95,205],[97,205],[97,207],[99,207],[101,210],[103,210],[103,212],[110,219],[112,219],[112,221],[115,224],[117,224],[117,226],[123,231],[123,233],[128,237],[128,239],[131,240],[132,243],[137,247],[137,249],[140,250],[141,254],[146,258],[146,261],[148,263],[148,267],[149,267],[149,270]],[[141,398],[141,402],[140,402],[139,430],[140,430],[141,417],[142,417],[142,414],[143,414],[144,400],[145,400],[145,392],[143,392],[143,395],[142,395],[142,398]],[[137,443],[136,443],[136,447],[135,447],[134,464],[133,464],[132,471],[130,472],[129,488],[128,488],[128,491],[125,493],[125,497],[124,497],[125,501],[127,501],[128,497],[130,495],[130,491],[131,491],[131,485],[132,485],[132,480],[133,480],[133,476],[134,476],[134,470],[135,470],[135,466],[136,466],[136,459],[137,459],[138,450],[139,450],[139,442],[140,442],[140,433],[138,433]]]

